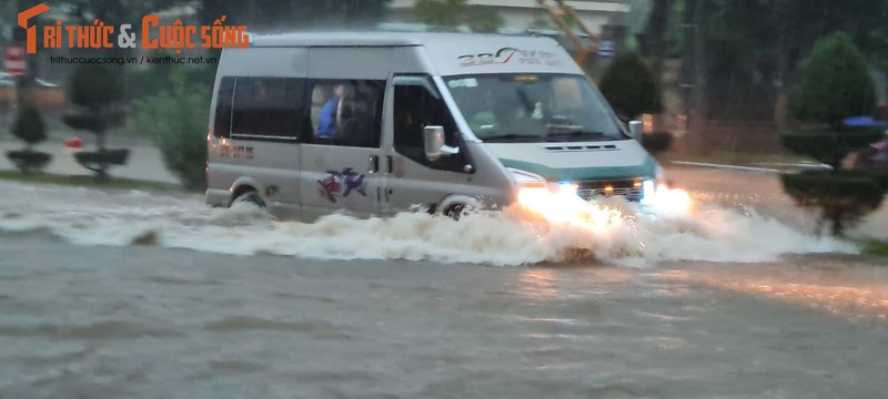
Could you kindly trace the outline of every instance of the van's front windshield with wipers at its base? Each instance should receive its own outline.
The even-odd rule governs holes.
[[[445,82],[475,136],[485,142],[628,139],[585,76],[481,74]]]

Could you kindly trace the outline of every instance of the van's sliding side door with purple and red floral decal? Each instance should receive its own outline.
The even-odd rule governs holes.
[[[306,93],[312,132],[303,144],[302,209],[380,211],[382,110],[390,49],[312,48]]]

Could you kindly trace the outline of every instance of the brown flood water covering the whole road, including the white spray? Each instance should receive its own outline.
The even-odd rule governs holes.
[[[884,397],[884,260],[675,178],[695,214],[595,229],[0,183],[0,398]]]

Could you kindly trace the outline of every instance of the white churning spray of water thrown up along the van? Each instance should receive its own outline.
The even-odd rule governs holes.
[[[10,185],[11,183],[3,183]],[[767,262],[783,254],[852,252],[775,219],[716,205],[693,211],[640,209],[619,200],[581,205],[552,218],[516,205],[456,222],[425,213],[314,223],[278,222],[244,204],[206,208],[200,197],[102,193],[16,185],[0,200],[0,231],[42,229],[78,245],[157,245],[202,252],[324,259],[431,259],[526,265],[663,260]]]

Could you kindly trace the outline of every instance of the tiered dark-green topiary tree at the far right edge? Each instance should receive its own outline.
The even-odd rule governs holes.
[[[867,171],[841,171],[848,152],[881,139],[880,130],[850,129],[848,116],[868,114],[875,91],[867,63],[851,38],[842,32],[817,42],[798,73],[790,96],[790,112],[826,127],[784,132],[780,140],[793,152],[833,166],[828,172],[784,174],[784,188],[798,205],[820,211],[818,232],[825,222],[841,235],[855,222],[881,204],[886,187]]]

